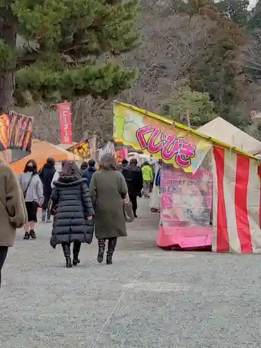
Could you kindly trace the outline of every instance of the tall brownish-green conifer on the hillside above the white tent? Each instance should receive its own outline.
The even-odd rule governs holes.
[[[209,25],[201,65],[195,70],[193,61],[187,70],[190,87],[208,93],[216,114],[228,118],[231,106],[240,100],[238,77],[242,68],[237,58],[246,42],[244,31],[226,13],[221,13],[213,1],[190,0],[189,3],[193,4],[194,13]]]

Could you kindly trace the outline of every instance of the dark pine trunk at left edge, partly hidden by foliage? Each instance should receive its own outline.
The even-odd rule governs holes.
[[[8,48],[15,49],[16,22],[12,11],[8,8],[0,9],[0,40],[4,40]],[[0,66],[0,115],[8,112],[13,107],[13,94],[15,92],[15,65],[13,62],[8,70]]]

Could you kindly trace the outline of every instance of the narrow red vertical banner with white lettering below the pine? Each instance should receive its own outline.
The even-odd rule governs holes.
[[[62,144],[72,143],[72,105],[65,102],[57,104]]]

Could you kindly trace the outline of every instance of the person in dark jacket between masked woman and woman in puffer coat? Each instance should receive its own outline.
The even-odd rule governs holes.
[[[52,180],[55,172],[55,161],[52,157],[49,157],[39,173],[45,197],[44,203],[42,204],[42,222],[50,221],[49,200],[52,194]]]

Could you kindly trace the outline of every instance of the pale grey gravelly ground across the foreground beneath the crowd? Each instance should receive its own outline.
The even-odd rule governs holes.
[[[111,266],[97,264],[94,241],[65,269],[51,226],[40,223],[35,241],[19,232],[3,269],[0,347],[260,347],[261,255],[161,251],[146,203]]]

